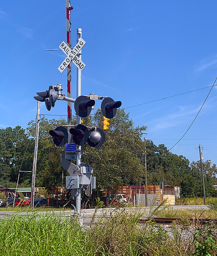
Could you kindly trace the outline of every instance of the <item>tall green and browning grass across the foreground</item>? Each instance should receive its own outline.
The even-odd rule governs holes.
[[[1,256],[179,255],[161,226],[140,226],[140,214],[116,213],[91,227],[56,215],[15,214],[0,220]]]

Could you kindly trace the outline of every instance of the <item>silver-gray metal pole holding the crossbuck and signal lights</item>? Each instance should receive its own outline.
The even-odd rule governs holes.
[[[79,42],[82,38],[82,29],[77,29],[77,42]],[[78,55],[79,59],[81,59],[81,51]],[[77,97],[81,96],[81,70],[77,68]],[[81,124],[81,117],[76,115],[76,124]],[[77,146],[77,156],[76,156],[76,165],[78,167],[81,166],[81,146]],[[82,224],[82,214],[81,214],[81,188],[77,189],[76,196],[76,213],[79,215],[79,222]]]

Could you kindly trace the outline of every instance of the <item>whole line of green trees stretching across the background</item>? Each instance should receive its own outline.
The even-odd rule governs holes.
[[[97,110],[94,116],[84,118],[83,124],[102,128],[102,120],[101,111]],[[75,120],[73,122],[75,124]],[[65,124],[64,119],[40,120],[37,187],[50,189],[65,184],[67,174],[60,165],[60,154],[64,152],[64,147],[55,146],[48,133],[50,129]],[[35,121],[30,121],[26,129],[20,126],[0,129],[1,185],[15,187],[18,171],[32,170],[35,127]],[[146,129],[146,126],[134,127],[132,119],[124,109],[120,109],[110,120],[102,147],[82,146],[82,162],[93,166],[97,190],[107,186],[108,194],[111,194],[122,185],[145,184],[143,156],[146,149],[148,185],[159,185],[165,181],[166,185],[180,186],[183,197],[201,197],[203,187],[199,161],[190,164],[186,157],[169,152],[164,144],[156,146],[153,141],[144,142],[142,137]],[[206,195],[216,196],[217,191],[213,188],[217,184],[216,165],[206,160],[203,168]],[[22,173],[19,180],[19,186],[31,186],[31,173]]]

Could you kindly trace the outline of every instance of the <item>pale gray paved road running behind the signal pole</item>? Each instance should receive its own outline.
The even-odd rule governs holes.
[[[127,211],[127,213],[143,213],[144,217],[149,214],[150,208],[153,210],[153,207],[132,207],[132,208],[100,208],[100,209],[84,209],[82,210],[84,222],[90,222],[91,219],[93,218],[94,214],[94,219],[99,219],[100,217],[106,217],[110,218],[116,211]],[[164,208],[164,207],[162,207]],[[207,205],[183,205],[183,206],[169,206],[169,208],[173,209],[193,209],[193,210],[198,210],[198,209],[209,209]],[[14,211],[0,211],[0,219],[3,218],[8,218],[11,215],[14,214],[19,214],[22,216],[27,216],[27,215],[43,215],[46,216],[48,214],[54,214],[56,216],[60,216],[61,218],[70,218],[74,214],[74,210],[65,210],[65,211],[34,211],[34,212],[14,212]]]

